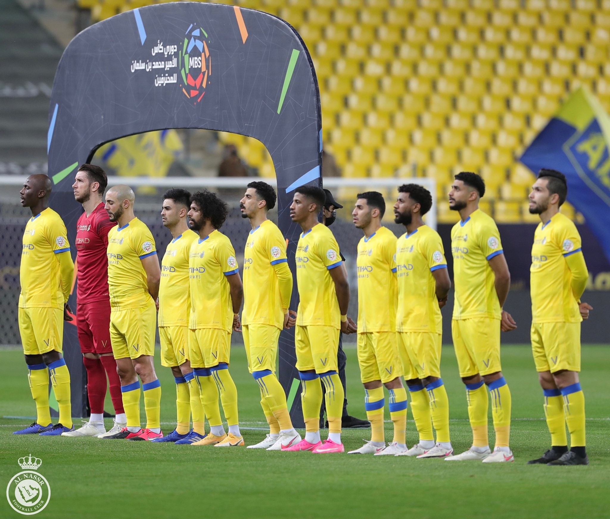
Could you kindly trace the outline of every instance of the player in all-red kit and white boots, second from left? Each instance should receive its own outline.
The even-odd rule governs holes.
[[[93,164],[82,164],[76,172],[72,189],[74,200],[84,212],[76,222],[76,327],[81,345],[82,363],[87,370],[87,397],[91,416],[76,431],[62,436],[112,436],[127,425],[121,398],[121,381],[110,345],[110,295],[108,293],[108,232],[110,222],[102,197],[108,185],[106,172]],[[114,425],[104,428],[106,376],[115,408]]]

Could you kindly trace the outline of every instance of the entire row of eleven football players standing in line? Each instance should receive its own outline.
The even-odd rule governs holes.
[[[152,234],[134,215],[133,191],[114,186],[103,203],[106,186],[104,171],[90,164],[78,169],[73,185],[75,199],[85,210],[76,236],[76,321],[91,404],[90,421],[76,431],[70,418],[70,375],[61,355],[62,319],[74,318],[67,305],[73,279],[70,246],[65,225],[48,208],[48,177],[32,175],[21,190],[22,204],[32,209],[32,219],[24,232],[19,321],[38,415],[34,424],[16,434],[244,445],[237,390],[229,373],[231,333],[235,331],[243,333],[248,369],[259,385],[260,403],[270,426],[265,440],[248,447],[343,452],[344,395],[337,348],[340,333],[357,333],[371,440],[351,453],[486,463],[514,460],[509,447],[511,393],[501,372],[500,331],[513,330],[516,323],[503,310],[510,274],[500,235],[493,219],[478,209],[485,192],[481,177],[468,172],[456,175],[448,196],[450,208],[461,218],[451,231],[451,329],[473,431],[472,447],[457,455],[451,447],[448,398],[440,376],[441,308],[451,281],[440,236],[422,219],[432,205],[425,188],[415,184],[398,188],[395,222],[406,228],[398,239],[381,223],[386,210],[381,194],[357,196],[353,220],[364,236],[357,247],[355,323],[347,316],[350,289],[339,245],[331,230],[318,222],[328,202],[322,189],[301,186],[290,205],[292,221],[303,230],[295,254],[300,299],[295,312],[290,310],[293,278],[287,242],[267,219],[267,211],[276,203],[270,185],[249,183],[240,202],[242,216],[252,227],[243,258],[243,284],[231,241],[219,231],[228,206],[216,194],[191,195],[183,189],[164,194],[162,221],[173,239],[159,267]],[[580,236],[573,222],[559,213],[566,194],[564,175],[541,170],[529,196],[529,210],[541,220],[532,249],[531,336],[552,446],[532,462],[553,465],[588,463],[578,372],[580,322],[591,308],[580,302],[587,279]],[[152,363],[157,311],[161,362],[171,368],[176,381],[177,426],[167,436],[160,431],[161,388]],[[275,374],[279,333],[290,327],[296,327],[304,439],[292,426],[286,396]],[[47,368],[60,409],[56,425],[48,411]],[[101,414],[106,375],[117,413],[115,426],[108,432]],[[144,429],[140,427],[138,376],[145,400]],[[405,442],[403,377],[419,434],[418,443],[410,449]],[[388,445],[383,386],[389,391],[394,429]],[[492,398],[493,452],[488,445],[485,386]],[[228,432],[222,424],[219,397]],[[320,439],[323,399],[329,429],[324,442]]]

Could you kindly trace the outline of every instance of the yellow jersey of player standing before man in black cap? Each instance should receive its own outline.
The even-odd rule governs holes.
[[[328,272],[343,264],[339,244],[331,230],[316,224],[301,233],[296,246],[296,284],[299,307],[296,324],[323,325],[341,328],[341,314],[335,283]]]

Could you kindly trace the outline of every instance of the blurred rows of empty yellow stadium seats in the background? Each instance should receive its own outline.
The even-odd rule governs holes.
[[[154,3],[77,1],[94,21]],[[500,222],[531,221],[523,197],[533,177],[517,159],[562,99],[587,85],[610,108],[607,0],[235,4],[267,10],[300,32],[320,84],[325,146],[343,175],[392,176],[407,161],[445,192],[450,171],[477,171]],[[247,140],[221,135],[239,142],[261,174],[273,174],[262,144]],[[439,221],[447,219],[454,215],[439,210]]]

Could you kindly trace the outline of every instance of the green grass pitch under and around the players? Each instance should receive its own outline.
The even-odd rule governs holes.
[[[346,353],[349,409],[364,417],[356,350],[348,346]],[[40,457],[39,471],[52,492],[41,518],[610,517],[610,346],[583,347],[589,467],[526,465],[550,442],[542,391],[528,347],[504,346],[502,355],[512,392],[513,464],[24,437],[11,433],[32,420],[0,418],[0,482],[8,484],[21,470],[19,457]],[[162,428],[169,433],[176,418],[174,383],[170,370],[159,365],[158,352],[156,361],[163,389]],[[246,444],[256,443],[266,425],[257,385],[248,375],[243,348],[234,348],[232,361],[243,436]],[[443,348],[443,380],[450,398],[451,439],[461,452],[472,437],[451,347]],[[109,400],[106,408],[112,409]],[[21,351],[0,350],[0,417],[30,416],[34,409]],[[344,431],[346,450],[359,447],[369,435],[370,429]],[[391,439],[392,423],[387,422],[386,440]],[[407,443],[415,442],[409,411]],[[491,417],[490,443],[493,447]],[[4,498],[0,501],[0,517],[21,517]]]

